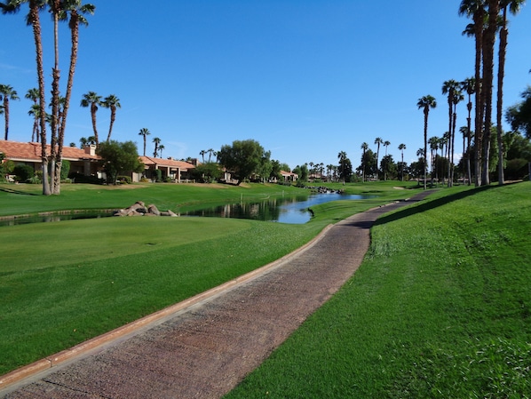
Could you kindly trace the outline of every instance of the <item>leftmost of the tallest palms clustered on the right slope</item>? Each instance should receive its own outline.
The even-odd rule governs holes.
[[[474,176],[475,185],[479,186],[479,175],[481,174],[481,142],[483,140],[483,81],[481,78],[481,59],[483,49],[483,28],[485,25],[485,0],[462,0],[459,5],[459,15],[466,15],[472,18],[473,23],[464,30],[463,35],[475,38],[476,56],[474,62],[474,79],[476,81],[475,99],[475,124],[474,124]]]

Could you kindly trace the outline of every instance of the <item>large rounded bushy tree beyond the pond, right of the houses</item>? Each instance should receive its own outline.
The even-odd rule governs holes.
[[[266,151],[256,140],[234,140],[232,145],[221,147],[218,159],[228,172],[234,174],[238,185],[251,174],[257,173],[262,164],[269,160]]]

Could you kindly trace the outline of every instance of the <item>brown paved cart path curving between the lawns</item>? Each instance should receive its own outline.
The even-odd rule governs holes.
[[[262,363],[360,266],[391,203],[330,227],[297,256],[164,323],[0,391],[6,398],[218,398]],[[215,300],[214,300],[215,299]]]

